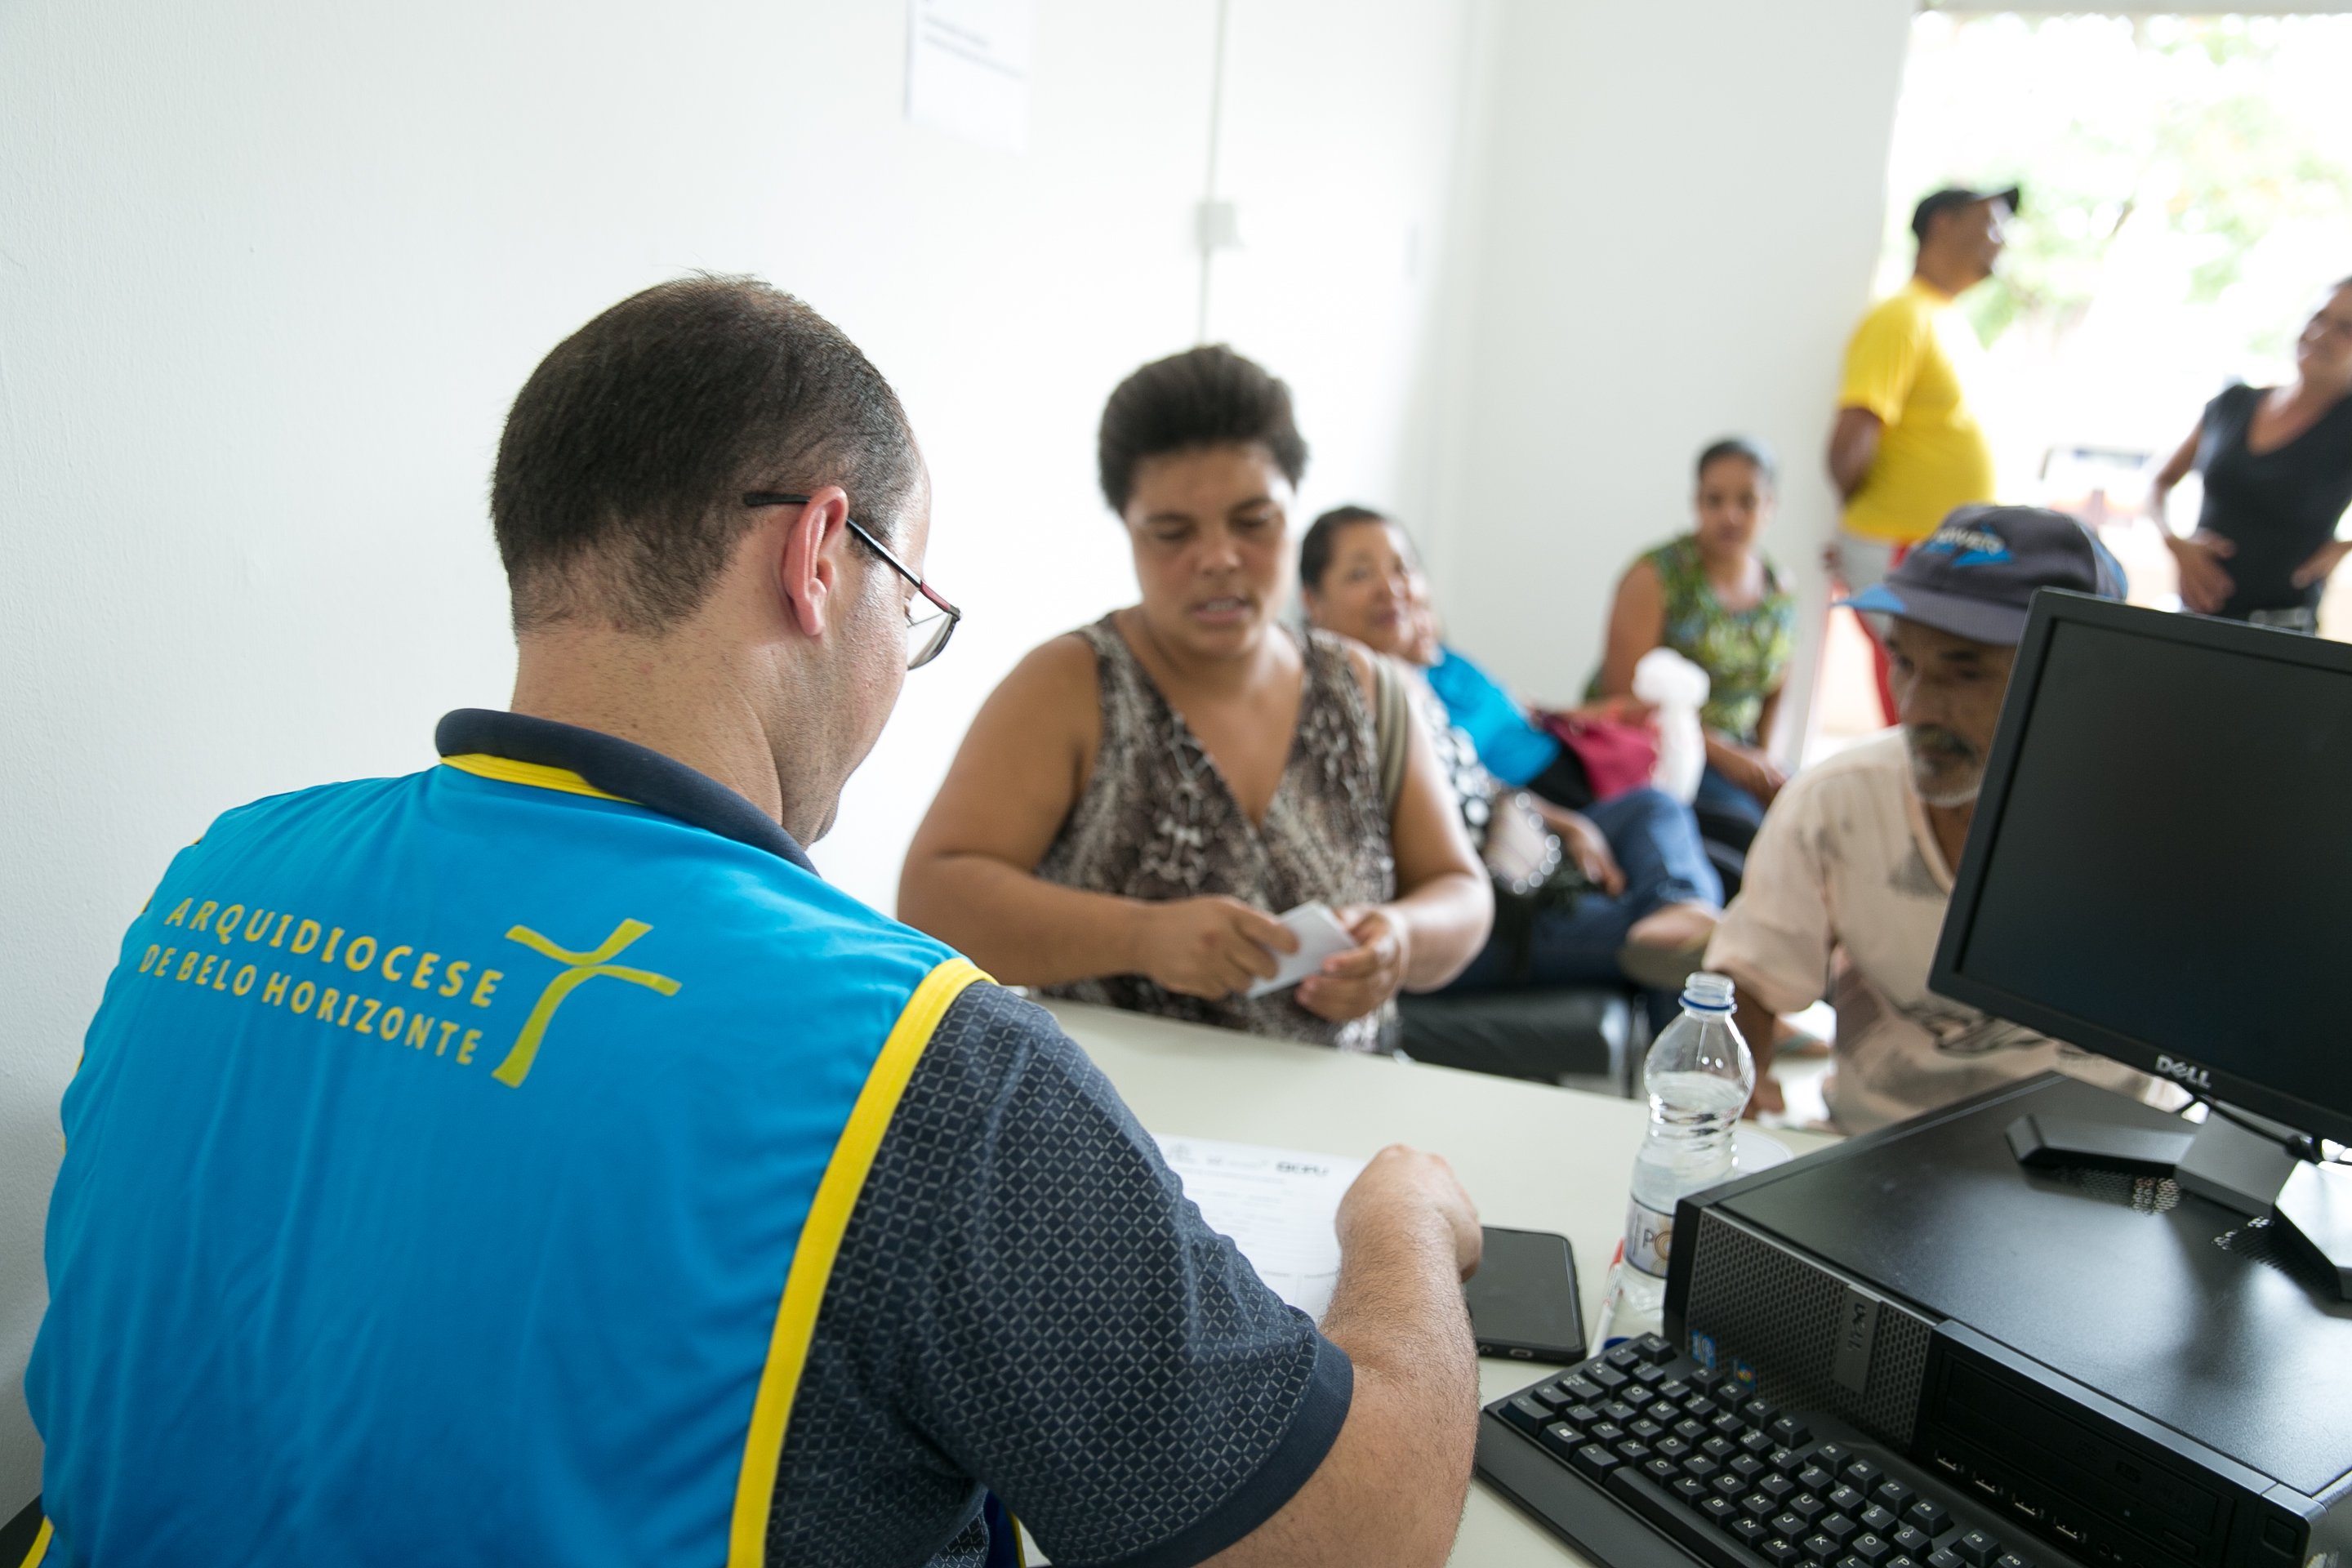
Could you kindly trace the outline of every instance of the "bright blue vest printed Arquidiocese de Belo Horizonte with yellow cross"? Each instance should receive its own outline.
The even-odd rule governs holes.
[[[760,1563],[835,1248],[976,978],[553,766],[230,811],[64,1103],[49,1561]]]

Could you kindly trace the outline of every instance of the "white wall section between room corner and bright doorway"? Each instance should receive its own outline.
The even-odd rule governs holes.
[[[1783,458],[1766,550],[1804,588],[1811,668],[1837,517],[1820,454],[1910,14],[1501,0],[1428,555],[1454,639],[1524,696],[1583,691],[1616,576],[1689,527],[1691,458],[1733,430]]]

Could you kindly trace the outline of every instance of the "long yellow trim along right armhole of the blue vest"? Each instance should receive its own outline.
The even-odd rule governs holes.
[[[800,1227],[800,1246],[793,1248],[793,1267],[783,1279],[783,1302],[776,1309],[776,1331],[767,1342],[767,1368],[760,1373],[760,1396],[750,1406],[750,1436],[743,1443],[743,1474],[736,1479],[734,1526],[727,1533],[727,1568],[760,1568],[767,1561],[767,1512],[776,1495],[776,1465],[783,1458],[783,1427],[793,1415],[793,1394],[800,1392],[800,1371],[809,1359],[809,1340],[816,1335],[816,1309],[826,1300],[826,1281],[833,1279],[833,1258],[842,1248],[842,1232],[849,1229],[849,1213],[858,1206],[866,1173],[889,1131],[898,1095],[915,1077],[931,1032],[948,1013],[948,1006],[964,994],[974,980],[988,980],[969,959],[948,959],[922,978],[906,1011],[882,1041],[882,1056],[866,1074],[866,1088],[849,1112],[826,1175],[816,1182],[816,1199],[809,1204],[809,1220]]]

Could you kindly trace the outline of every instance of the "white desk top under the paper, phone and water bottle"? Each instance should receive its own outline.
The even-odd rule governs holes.
[[[1569,1239],[1592,1331],[1609,1255],[1625,1229],[1625,1185],[1649,1126],[1644,1105],[1098,1006],[1056,1001],[1051,1011],[1155,1133],[1357,1159],[1390,1143],[1444,1154],[1486,1225]],[[1783,1131],[1773,1138],[1799,1154],[1828,1143]],[[1479,1399],[1501,1399],[1538,1375],[1543,1368],[1529,1361],[1479,1361]],[[1562,1568],[1585,1559],[1472,1481],[1451,1561]]]

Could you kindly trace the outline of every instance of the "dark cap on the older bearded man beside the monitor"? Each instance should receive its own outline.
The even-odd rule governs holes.
[[[1903,616],[1969,642],[2016,646],[2037,588],[2122,599],[2124,569],[2065,512],[1964,505],[1912,545],[1884,583],[1839,604]]]

